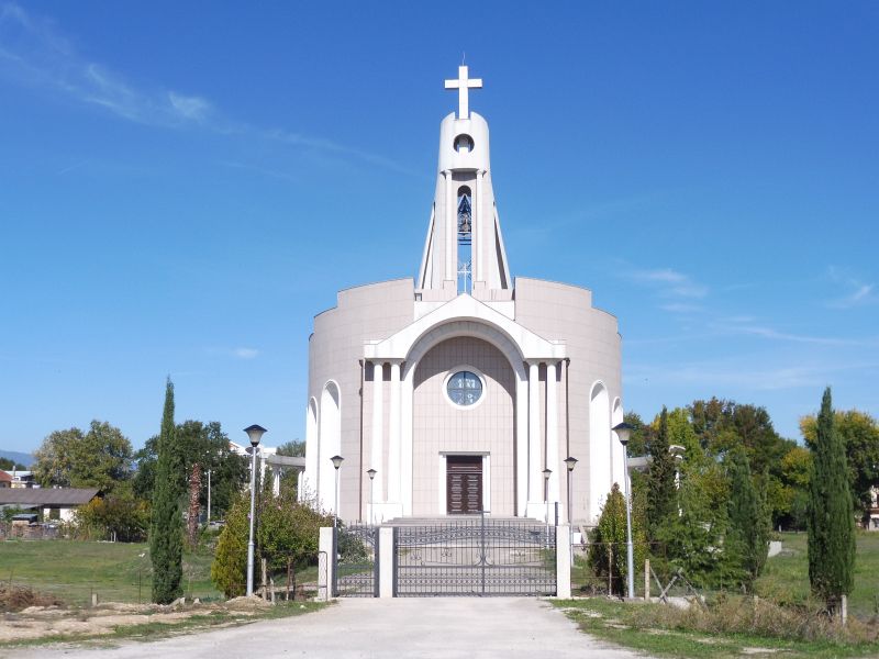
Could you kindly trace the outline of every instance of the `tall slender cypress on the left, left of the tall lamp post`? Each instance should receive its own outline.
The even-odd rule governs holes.
[[[174,383],[165,388],[165,410],[158,437],[156,481],[153,489],[153,518],[149,527],[149,557],[153,561],[153,602],[169,604],[182,595],[183,521],[180,511],[181,468],[176,450],[174,425]]]

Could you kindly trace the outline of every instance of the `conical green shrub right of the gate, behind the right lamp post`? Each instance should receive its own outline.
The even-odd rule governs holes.
[[[636,502],[637,498],[634,499]],[[608,500],[601,509],[598,525],[592,529],[587,560],[596,576],[604,580],[610,576],[611,592],[617,595],[625,594],[628,579],[625,525],[625,496],[620,491],[620,485],[613,483]],[[638,505],[633,505],[632,510],[632,554],[634,568],[637,571],[647,556],[644,512]]]

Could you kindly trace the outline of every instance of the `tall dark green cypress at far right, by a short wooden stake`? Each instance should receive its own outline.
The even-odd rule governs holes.
[[[855,574],[855,512],[848,488],[845,446],[836,431],[831,389],[817,415],[809,483],[809,581],[812,592],[835,611],[852,592]]]

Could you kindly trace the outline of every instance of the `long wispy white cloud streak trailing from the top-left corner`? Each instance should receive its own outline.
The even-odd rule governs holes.
[[[31,15],[14,3],[0,5],[0,72],[21,85],[49,89],[140,124],[164,129],[192,126],[223,135],[246,135],[413,174],[390,158],[332,139],[233,120],[209,99],[197,94],[137,86],[122,74],[81,56],[49,21]]]

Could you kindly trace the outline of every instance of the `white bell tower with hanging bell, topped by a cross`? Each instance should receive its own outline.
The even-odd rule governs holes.
[[[458,113],[439,125],[436,192],[416,287],[424,301],[460,293],[485,301],[512,295],[491,186],[488,123],[469,108],[469,90],[481,87],[466,66],[445,81],[446,89],[458,91]]]

